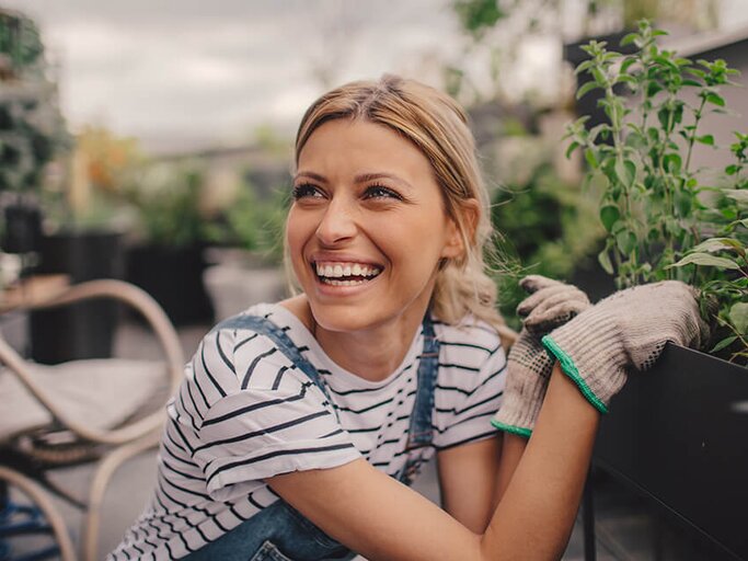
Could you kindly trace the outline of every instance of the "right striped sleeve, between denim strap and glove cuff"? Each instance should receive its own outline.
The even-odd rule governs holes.
[[[445,388],[448,403],[437,400],[437,426],[434,444],[438,449],[451,448],[488,438],[496,434],[491,417],[502,404],[506,381],[506,355],[499,346],[487,356],[476,374],[465,371],[469,385],[453,383]],[[437,388],[438,389],[438,388]]]

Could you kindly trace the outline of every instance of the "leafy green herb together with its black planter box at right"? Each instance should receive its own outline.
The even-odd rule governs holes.
[[[736,133],[720,186],[714,170],[693,169],[697,147],[715,145],[700,127],[725,110],[720,87],[736,71],[663,50],[661,34],[643,21],[621,42],[635,47],[630,54],[600,42],[583,47],[588,59],[577,72],[591,80],[577,96],[601,90],[607,121],[572,124],[568,152],[584,152],[587,181],[602,188],[600,265],[619,287],[660,279],[697,287],[716,335],[710,354],[668,345],[655,371],[630,377],[602,421],[596,465],[706,536],[718,551],[710,559],[744,559],[748,538],[735,513],[748,500],[748,142]]]

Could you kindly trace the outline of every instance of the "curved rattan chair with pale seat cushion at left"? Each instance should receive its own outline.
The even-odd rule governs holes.
[[[0,520],[0,541],[14,531],[47,530],[57,542],[51,554],[64,561],[78,556],[51,495],[84,511],[80,558],[93,560],[107,483],[124,461],[158,444],[164,404],[179,385],[184,365],[166,314],[150,296],[127,283],[91,280],[48,298],[33,298],[23,308],[51,308],[94,298],[113,298],[139,311],[154,332],[165,362],[107,358],[45,366],[22,358],[0,334],[0,502],[4,499],[4,506],[12,505],[14,494],[8,490],[14,488],[33,503],[25,511],[42,520],[36,527],[11,524],[9,518],[3,527]],[[47,479],[55,468],[82,462],[96,462],[85,499]],[[2,554],[0,551],[0,558]]]

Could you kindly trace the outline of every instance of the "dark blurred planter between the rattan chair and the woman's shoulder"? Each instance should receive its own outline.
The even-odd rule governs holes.
[[[212,322],[203,285],[203,248],[140,245],[127,254],[127,279],[150,294],[176,325]]]

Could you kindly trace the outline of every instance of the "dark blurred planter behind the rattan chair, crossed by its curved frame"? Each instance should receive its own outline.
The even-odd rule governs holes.
[[[66,232],[42,237],[41,274],[64,273],[77,284],[123,278],[122,234]],[[112,356],[118,308],[112,300],[80,302],[31,314],[32,357],[44,364]]]

